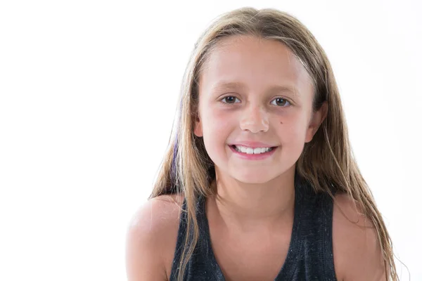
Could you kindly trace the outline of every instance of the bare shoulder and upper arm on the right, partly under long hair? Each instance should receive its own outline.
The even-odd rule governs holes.
[[[386,280],[376,229],[362,207],[345,194],[334,200],[333,257],[338,280]]]

